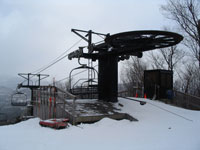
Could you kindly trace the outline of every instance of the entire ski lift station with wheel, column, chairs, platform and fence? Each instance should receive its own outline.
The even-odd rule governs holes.
[[[69,74],[69,90],[60,89],[55,84],[42,85],[41,80],[48,75],[41,72],[20,73],[25,81],[18,85],[16,93],[12,95],[12,105],[28,107],[29,116],[42,120],[67,118],[71,124],[95,122],[104,117],[137,121],[138,118],[134,116],[120,113],[119,108],[123,106],[118,103],[118,63],[130,56],[141,58],[145,51],[173,46],[183,39],[177,33],[155,30],[113,35],[78,29],[72,29],[72,32],[83,39],[87,46],[78,47],[78,50],[67,55],[69,60],[77,59],[80,65]],[[94,43],[94,36],[101,36],[103,41]],[[88,63],[82,64],[80,58],[87,59]],[[93,66],[95,61],[98,63],[97,69]],[[87,77],[72,83],[77,70],[87,71]],[[32,83],[33,78],[37,82]],[[21,88],[31,90],[30,102]],[[140,100],[135,101],[145,104]]]

